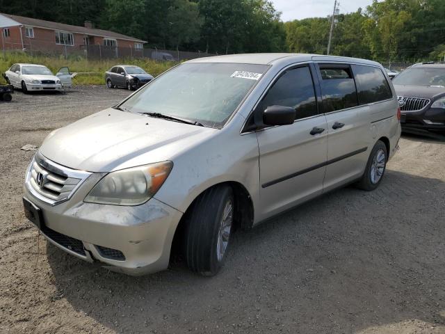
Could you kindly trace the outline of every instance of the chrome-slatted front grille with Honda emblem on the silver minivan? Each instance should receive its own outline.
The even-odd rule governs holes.
[[[35,197],[56,205],[68,200],[90,174],[60,166],[38,152],[29,166],[26,186]]]

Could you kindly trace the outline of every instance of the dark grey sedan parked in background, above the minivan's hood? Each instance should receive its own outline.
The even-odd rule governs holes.
[[[153,79],[151,74],[134,65],[116,65],[105,72],[105,82],[108,88],[124,87],[134,90]]]

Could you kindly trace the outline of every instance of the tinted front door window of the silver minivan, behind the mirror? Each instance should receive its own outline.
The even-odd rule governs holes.
[[[309,67],[289,70],[275,81],[259,104],[261,110],[268,106],[291,106],[296,110],[296,120],[316,115],[314,84]]]

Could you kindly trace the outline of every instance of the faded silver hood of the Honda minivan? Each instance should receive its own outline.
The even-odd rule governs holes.
[[[89,172],[174,159],[218,129],[106,109],[54,132],[39,151],[57,164]]]

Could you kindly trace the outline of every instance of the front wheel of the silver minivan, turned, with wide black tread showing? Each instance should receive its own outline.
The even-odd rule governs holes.
[[[184,255],[188,268],[213,276],[223,267],[234,223],[234,195],[227,185],[202,193],[186,216]]]

